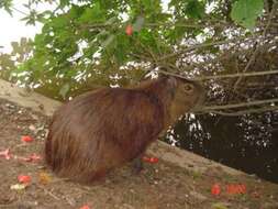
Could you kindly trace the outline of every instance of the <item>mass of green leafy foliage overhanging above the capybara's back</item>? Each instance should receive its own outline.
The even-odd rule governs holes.
[[[0,8],[12,12],[12,0],[2,0]],[[36,11],[36,3],[47,2],[55,10]],[[146,64],[175,66],[179,57],[160,59],[187,46],[187,40],[201,37],[202,43],[226,40],[221,29],[210,29],[230,15],[245,28],[253,28],[262,13],[263,0],[31,0],[22,20],[26,24],[43,23],[42,33],[34,38],[32,57],[21,56],[13,74],[26,85],[37,84],[63,98],[79,84],[96,85],[136,82],[144,75]],[[213,10],[208,10],[214,6]],[[230,14],[229,8],[232,8]],[[132,34],[125,33],[132,25]],[[210,29],[210,30],[208,30]],[[212,33],[211,33],[212,32]],[[198,41],[199,42],[199,41]],[[24,43],[21,43],[24,45]],[[14,52],[23,47],[13,43]],[[200,55],[218,54],[218,46],[197,51]],[[3,61],[7,57],[3,57]],[[141,66],[141,67],[138,67]],[[126,70],[135,68],[136,70]],[[116,78],[115,78],[116,77]]]

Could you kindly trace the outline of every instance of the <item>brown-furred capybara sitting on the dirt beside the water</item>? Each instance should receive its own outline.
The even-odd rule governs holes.
[[[80,95],[53,117],[46,164],[60,177],[91,183],[144,153],[202,98],[200,84],[174,76]]]

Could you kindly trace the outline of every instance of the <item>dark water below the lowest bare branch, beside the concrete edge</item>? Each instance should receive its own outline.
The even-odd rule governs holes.
[[[177,146],[278,183],[277,113],[193,119],[187,116],[169,135],[178,140]]]

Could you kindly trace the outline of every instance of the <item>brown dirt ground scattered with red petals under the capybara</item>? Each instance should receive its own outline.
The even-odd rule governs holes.
[[[41,113],[0,99],[1,209],[278,209],[278,185],[256,176],[232,176],[221,167],[198,173],[159,160],[145,163],[138,175],[126,165],[91,186],[59,179],[43,160],[30,158],[43,155],[47,121]],[[33,141],[22,142],[23,135]],[[19,175],[31,176],[31,183],[20,188]],[[214,184],[219,195],[212,195]],[[232,189],[240,184],[243,190]]]

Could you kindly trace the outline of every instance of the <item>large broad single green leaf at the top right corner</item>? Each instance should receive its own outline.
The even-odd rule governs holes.
[[[253,29],[263,9],[264,0],[238,0],[233,4],[231,18],[236,23]]]

